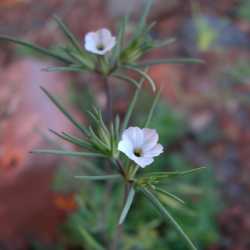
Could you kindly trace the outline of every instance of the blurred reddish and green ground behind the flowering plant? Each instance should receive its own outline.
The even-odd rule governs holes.
[[[132,6],[128,32],[142,0],[0,0],[0,34],[45,47],[63,44],[53,21],[60,16],[79,39],[110,27]],[[148,58],[195,57],[204,65],[162,65],[150,75],[165,86],[152,127],[167,152],[155,169],[208,171],[171,181],[166,188],[187,201],[164,203],[199,249],[250,249],[250,1],[155,0],[152,36],[176,43]],[[83,122],[96,102],[105,105],[91,74],[48,73],[46,57],[0,41],[0,250],[112,249],[122,188],[85,183],[73,176],[103,171],[102,162],[34,156],[47,146],[72,148],[48,128],[77,134],[43,95],[46,86]],[[112,82],[115,112],[126,112],[132,87]],[[147,114],[150,89],[137,107],[134,124]],[[91,197],[91,198],[90,198]],[[111,248],[110,248],[111,246]],[[117,249],[185,250],[178,234],[138,197]],[[114,249],[115,250],[115,249]]]

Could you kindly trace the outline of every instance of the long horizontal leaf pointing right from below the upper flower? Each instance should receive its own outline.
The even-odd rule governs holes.
[[[138,64],[131,64],[131,66],[135,68],[140,68],[140,67],[143,68],[159,64],[198,64],[198,63],[204,63],[204,61],[201,59],[193,59],[193,58],[171,58],[171,59],[144,61]]]

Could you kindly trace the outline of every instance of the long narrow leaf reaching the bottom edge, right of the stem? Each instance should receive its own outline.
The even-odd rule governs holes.
[[[145,197],[153,204],[153,206],[160,212],[163,218],[165,218],[168,222],[170,222],[176,229],[176,231],[182,236],[182,238],[186,241],[187,245],[191,250],[197,250],[193,242],[190,240],[188,235],[184,232],[178,222],[172,217],[169,211],[161,204],[159,199],[150,192],[147,188],[141,189],[142,193]]]

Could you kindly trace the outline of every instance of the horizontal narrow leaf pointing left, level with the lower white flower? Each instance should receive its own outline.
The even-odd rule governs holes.
[[[51,155],[63,155],[68,157],[105,157],[103,154],[92,153],[92,152],[75,152],[66,150],[56,150],[56,149],[36,149],[32,150],[31,153],[35,154],[51,154]]]

